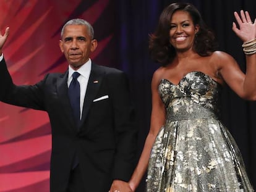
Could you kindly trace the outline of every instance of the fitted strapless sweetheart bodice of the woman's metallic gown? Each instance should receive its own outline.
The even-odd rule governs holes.
[[[221,85],[202,72],[187,73],[177,85],[162,79],[158,86],[169,120],[218,118]]]

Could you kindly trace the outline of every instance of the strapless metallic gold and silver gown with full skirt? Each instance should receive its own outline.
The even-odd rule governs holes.
[[[166,122],[151,150],[148,192],[254,191],[233,137],[218,118],[221,85],[190,72],[178,85],[163,79]]]

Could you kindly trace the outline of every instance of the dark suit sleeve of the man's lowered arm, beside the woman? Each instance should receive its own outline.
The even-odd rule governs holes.
[[[116,138],[113,179],[128,182],[134,171],[137,152],[135,111],[125,73],[119,72],[113,76],[110,83]]]

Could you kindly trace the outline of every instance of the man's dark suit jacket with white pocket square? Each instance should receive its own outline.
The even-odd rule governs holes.
[[[106,192],[114,179],[128,181],[134,170],[137,130],[128,81],[120,70],[92,64],[78,131],[67,94],[67,73],[50,73],[35,85],[16,86],[3,59],[0,100],[48,112],[51,191],[66,191],[76,153],[86,191]]]

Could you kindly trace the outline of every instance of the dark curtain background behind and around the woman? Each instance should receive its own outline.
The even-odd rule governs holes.
[[[232,30],[234,11],[248,10],[252,20],[256,17],[256,1],[153,1],[131,0],[118,1],[119,52],[121,69],[130,78],[131,88],[137,107],[139,125],[139,152],[150,127],[151,111],[151,76],[160,65],[150,61],[148,56],[148,34],[153,33],[158,18],[164,7],[172,2],[190,2],[201,12],[208,27],[215,31],[221,51],[228,52],[239,63],[245,72],[245,56],[242,52],[242,41]],[[252,82],[256,83],[256,82]],[[222,95],[222,116],[224,124],[233,134],[244,157],[250,180],[256,186],[256,150],[254,148],[256,133],[256,103],[239,98],[228,86],[224,86]],[[137,191],[144,191],[142,182]]]

